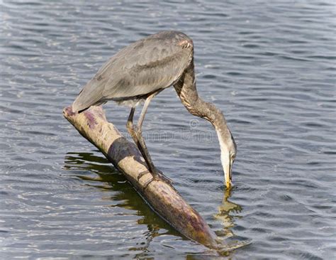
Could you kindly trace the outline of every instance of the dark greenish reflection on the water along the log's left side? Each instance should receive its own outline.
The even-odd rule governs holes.
[[[106,158],[96,156],[94,153],[67,153],[64,168],[72,171],[75,177],[87,180],[88,183],[85,185],[102,190],[116,191],[116,195],[113,195],[111,200],[120,201],[121,203],[111,205],[111,207],[135,210],[136,214],[141,216],[141,219],[137,220],[137,222],[138,224],[147,225],[146,242],[140,243],[139,247],[134,247],[130,251],[147,251],[152,239],[162,234],[170,234],[186,239],[150,209],[123,174],[111,166],[111,163]],[[89,174],[87,171],[89,171]],[[98,182],[99,185],[93,185],[92,182]],[[166,231],[162,232],[162,230]]]

